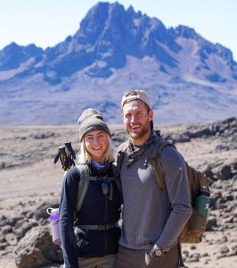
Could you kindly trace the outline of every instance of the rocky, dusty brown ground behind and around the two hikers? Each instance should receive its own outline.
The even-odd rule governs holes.
[[[237,264],[237,120],[159,127],[192,166],[208,175],[211,210],[206,240],[184,245],[189,267]],[[127,135],[111,126],[115,147]],[[0,267],[60,267],[61,248],[51,242],[48,206],[57,206],[63,171],[53,163],[57,148],[78,127],[0,128]]]

